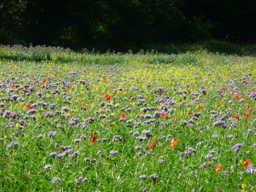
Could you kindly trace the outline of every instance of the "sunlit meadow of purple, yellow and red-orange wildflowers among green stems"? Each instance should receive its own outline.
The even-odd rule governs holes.
[[[255,191],[256,59],[0,47],[0,191]]]

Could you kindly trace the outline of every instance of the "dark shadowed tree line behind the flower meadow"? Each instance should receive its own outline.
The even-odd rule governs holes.
[[[254,42],[254,0],[2,0],[0,44],[139,49]]]

